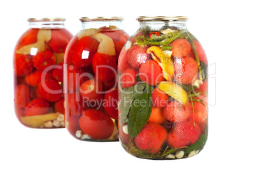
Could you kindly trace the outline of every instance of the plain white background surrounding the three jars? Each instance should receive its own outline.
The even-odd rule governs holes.
[[[1,1],[0,169],[255,169],[256,13],[253,1]],[[209,137],[183,160],[145,160],[120,143],[78,141],[66,129],[30,129],[13,110],[12,53],[29,17],[66,17],[80,30],[86,16],[122,16],[130,35],[139,15],[186,15],[210,66]]]

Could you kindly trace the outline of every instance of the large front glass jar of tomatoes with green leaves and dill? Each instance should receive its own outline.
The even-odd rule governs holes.
[[[143,159],[183,159],[208,136],[208,62],[187,17],[138,17],[118,60],[118,128]]]

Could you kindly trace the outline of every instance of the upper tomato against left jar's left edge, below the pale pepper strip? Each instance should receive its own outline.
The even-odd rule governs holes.
[[[13,67],[16,76],[25,76],[33,69],[32,60],[27,55],[16,54],[13,59]]]

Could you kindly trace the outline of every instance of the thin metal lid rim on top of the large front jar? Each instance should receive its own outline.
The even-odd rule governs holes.
[[[139,16],[136,20],[188,20],[185,16]]]

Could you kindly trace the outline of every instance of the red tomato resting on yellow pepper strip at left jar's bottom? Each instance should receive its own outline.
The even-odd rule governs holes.
[[[25,116],[43,115],[49,110],[49,103],[44,99],[33,99],[25,108]]]

